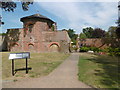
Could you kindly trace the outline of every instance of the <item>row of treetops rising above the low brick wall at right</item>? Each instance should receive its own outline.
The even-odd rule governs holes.
[[[101,28],[83,28],[83,33],[80,33],[80,38],[120,38],[120,27],[110,26],[108,31],[102,30]]]

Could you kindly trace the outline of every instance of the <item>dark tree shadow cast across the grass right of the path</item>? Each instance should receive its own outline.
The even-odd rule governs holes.
[[[95,69],[95,75],[101,76],[100,83],[106,86],[116,86],[120,88],[120,57],[98,56],[87,59],[98,63],[101,69]]]

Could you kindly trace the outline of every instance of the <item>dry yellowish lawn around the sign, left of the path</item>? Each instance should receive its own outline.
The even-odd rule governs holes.
[[[1,52],[0,52],[1,53]],[[31,53],[31,58],[28,60],[28,74],[26,75],[25,59],[15,60],[15,69],[18,70],[14,79],[23,77],[40,77],[48,75],[59,64],[61,64],[70,54],[64,53]],[[13,79],[11,75],[11,60],[8,60],[9,52],[2,52],[2,79]]]

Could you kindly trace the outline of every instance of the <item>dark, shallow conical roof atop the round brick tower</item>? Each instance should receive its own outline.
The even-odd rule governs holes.
[[[25,19],[30,19],[30,18],[47,19],[47,20],[52,21],[51,19],[49,19],[46,16],[43,16],[41,14],[34,14],[34,15],[31,15],[31,16],[26,16],[26,17],[21,18],[20,21],[23,22]],[[52,21],[52,22],[54,22],[54,21]]]

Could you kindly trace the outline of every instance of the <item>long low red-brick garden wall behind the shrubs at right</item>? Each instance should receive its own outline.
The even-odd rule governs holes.
[[[90,47],[98,47],[101,49],[107,47],[120,47],[120,39],[116,38],[87,38],[80,39],[80,45],[90,46]]]

